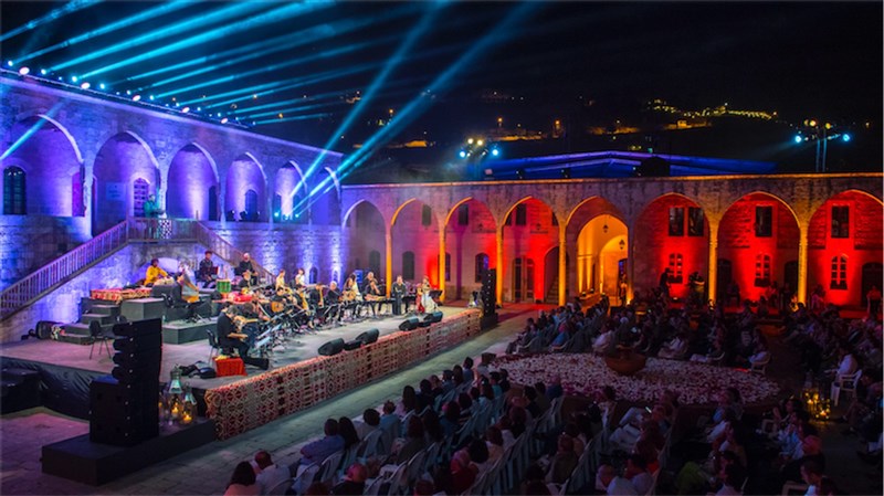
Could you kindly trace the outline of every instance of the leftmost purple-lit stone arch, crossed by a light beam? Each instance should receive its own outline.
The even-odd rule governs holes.
[[[15,123],[6,138],[11,145],[0,158],[3,169],[14,166],[24,171],[24,213],[82,215],[83,156],[71,133],[52,117],[36,114]]]

